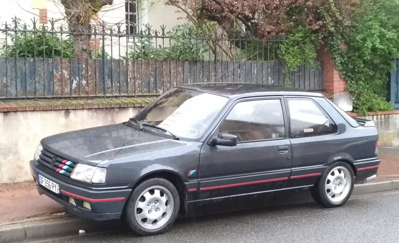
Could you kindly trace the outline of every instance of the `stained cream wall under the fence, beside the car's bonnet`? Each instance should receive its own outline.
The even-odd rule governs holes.
[[[0,183],[32,180],[29,161],[41,138],[127,121],[138,108],[0,113]]]

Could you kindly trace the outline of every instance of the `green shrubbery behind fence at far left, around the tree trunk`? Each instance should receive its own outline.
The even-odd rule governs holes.
[[[62,40],[57,34],[47,32],[18,32],[6,34],[0,47],[0,57],[41,57],[41,58],[74,58],[75,47],[69,36]],[[103,48],[95,52],[90,50],[90,58],[109,58]]]

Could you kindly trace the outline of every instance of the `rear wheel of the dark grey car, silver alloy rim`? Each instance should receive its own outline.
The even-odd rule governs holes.
[[[355,176],[345,162],[330,165],[312,188],[313,199],[324,207],[340,207],[352,195]]]

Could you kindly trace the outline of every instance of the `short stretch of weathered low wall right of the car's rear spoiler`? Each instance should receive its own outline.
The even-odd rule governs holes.
[[[399,114],[362,117],[373,120],[379,133],[380,147],[399,147]]]

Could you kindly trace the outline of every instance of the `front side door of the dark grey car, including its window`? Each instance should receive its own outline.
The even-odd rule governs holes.
[[[233,104],[212,137],[233,134],[237,145],[211,146],[205,141],[199,159],[198,200],[284,188],[292,154],[283,104],[282,97]]]

